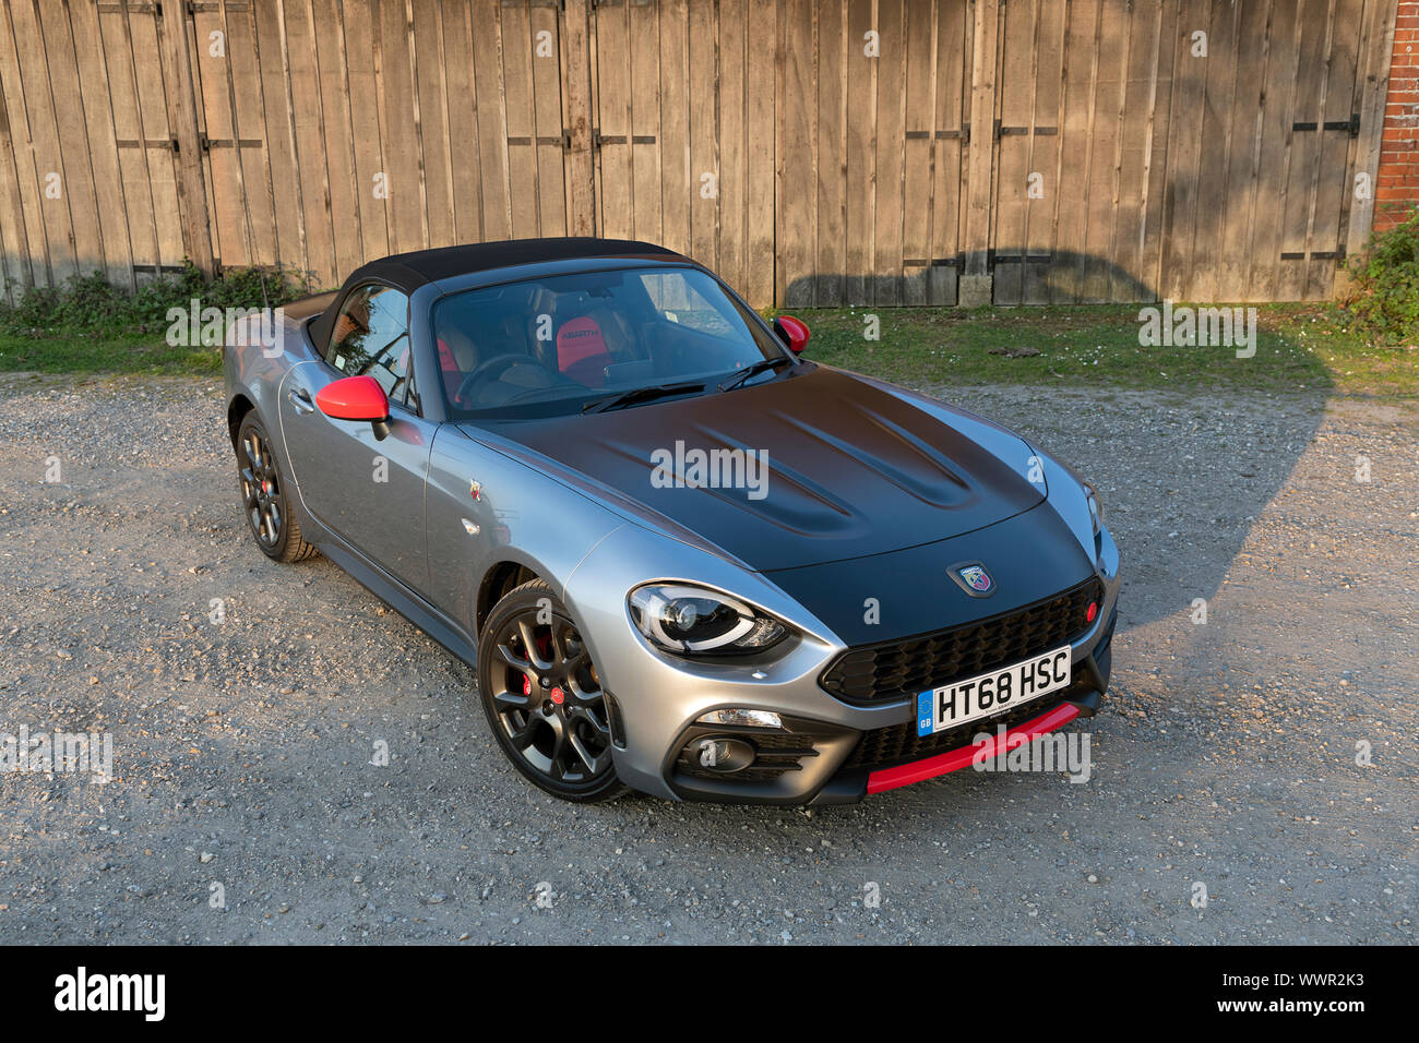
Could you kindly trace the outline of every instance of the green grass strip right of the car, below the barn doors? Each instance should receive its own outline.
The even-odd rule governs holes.
[[[1112,385],[1413,397],[1419,352],[1366,343],[1325,305],[1259,305],[1256,356],[1235,348],[1142,346],[1141,305],[809,308],[807,356],[888,380]],[[863,338],[864,316],[881,339]]]

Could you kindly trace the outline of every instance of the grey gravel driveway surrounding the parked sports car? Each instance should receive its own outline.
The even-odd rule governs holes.
[[[0,773],[0,942],[1412,944],[1419,409],[956,397],[1104,491],[1090,780],[576,807],[504,761],[467,667],[257,551],[213,382],[6,379],[0,735],[111,732],[114,778]]]

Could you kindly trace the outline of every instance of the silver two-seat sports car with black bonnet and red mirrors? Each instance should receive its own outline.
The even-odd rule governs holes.
[[[427,250],[250,325],[224,366],[257,545],[319,551],[471,664],[559,798],[857,800],[1108,685],[1094,488],[802,358],[800,321],[680,254]]]

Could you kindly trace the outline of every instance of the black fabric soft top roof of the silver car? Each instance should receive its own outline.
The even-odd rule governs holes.
[[[592,257],[656,257],[683,260],[674,250],[666,250],[654,243],[639,243],[629,238],[595,238],[592,236],[569,236],[561,238],[514,238],[494,243],[467,243],[457,247],[436,247],[394,254],[360,265],[345,280],[345,285],[329,302],[325,312],[311,324],[311,338],[324,343],[329,338],[335,309],[345,299],[346,291],[365,280],[380,280],[413,294],[419,287],[438,280],[467,275],[492,268],[511,268],[519,264],[543,264],[548,261],[575,261]]]

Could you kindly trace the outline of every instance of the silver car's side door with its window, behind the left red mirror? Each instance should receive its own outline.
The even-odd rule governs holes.
[[[385,389],[385,438],[368,421],[335,420],[315,406],[325,385],[346,376],[372,376]],[[437,424],[421,416],[409,298],[382,282],[350,289],[324,360],[294,366],[280,403],[287,458],[305,509],[406,587],[424,593],[424,481]]]

